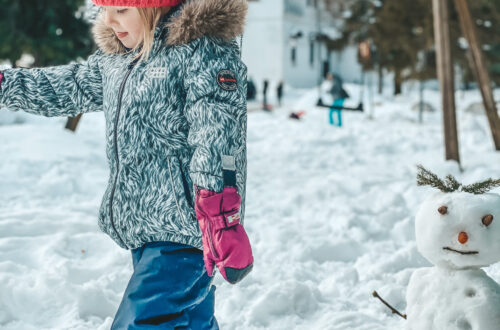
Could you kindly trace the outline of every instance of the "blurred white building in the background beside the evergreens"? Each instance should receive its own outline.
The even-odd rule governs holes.
[[[261,86],[279,81],[313,87],[325,72],[340,74],[345,81],[358,81],[361,69],[356,49],[328,54],[322,35],[338,37],[333,18],[321,0],[254,0],[243,39],[243,60],[248,76]]]

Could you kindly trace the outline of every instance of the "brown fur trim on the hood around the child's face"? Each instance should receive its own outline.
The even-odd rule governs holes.
[[[243,34],[248,10],[246,0],[188,0],[164,24],[168,28],[166,45],[187,44],[203,36],[230,41]],[[106,54],[126,49],[100,14],[92,28],[97,46]]]

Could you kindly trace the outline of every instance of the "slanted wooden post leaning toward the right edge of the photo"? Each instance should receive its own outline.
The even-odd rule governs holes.
[[[466,0],[454,0],[458,12],[460,26],[467,42],[469,43],[469,64],[474,72],[474,76],[481,90],[484,109],[490,123],[491,134],[496,150],[500,150],[500,117],[498,116],[493,91],[491,89],[491,80],[486,68],[481,47],[477,38],[476,26],[472,21],[469,6]]]

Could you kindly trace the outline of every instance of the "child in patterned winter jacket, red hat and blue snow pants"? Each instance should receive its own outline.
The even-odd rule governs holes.
[[[252,268],[242,227],[246,0],[93,0],[85,63],[0,72],[0,106],[103,111],[108,187],[99,226],[132,251],[112,329],[217,329],[211,277]]]

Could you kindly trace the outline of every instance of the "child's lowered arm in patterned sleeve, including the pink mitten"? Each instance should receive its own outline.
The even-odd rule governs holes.
[[[235,43],[208,37],[198,42],[185,79],[195,211],[208,275],[213,276],[217,266],[235,284],[253,266],[250,241],[240,223],[246,178],[247,71]]]

